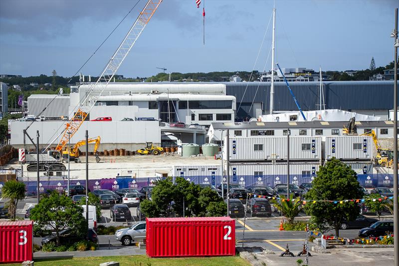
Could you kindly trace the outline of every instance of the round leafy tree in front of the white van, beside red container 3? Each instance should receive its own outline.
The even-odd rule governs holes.
[[[82,238],[87,231],[83,208],[74,204],[69,197],[55,191],[42,198],[30,211],[30,219],[35,221],[34,226],[39,229],[51,228],[55,232],[57,246],[60,245],[59,234],[62,230],[69,228]]]

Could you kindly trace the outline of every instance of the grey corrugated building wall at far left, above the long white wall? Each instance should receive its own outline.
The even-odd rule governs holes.
[[[55,95],[50,96],[29,96],[27,99],[29,115],[39,115],[43,108],[55,97]],[[69,96],[57,96],[41,115],[45,117],[68,116],[68,106]]]

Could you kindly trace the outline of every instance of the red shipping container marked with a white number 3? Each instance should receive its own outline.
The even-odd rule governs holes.
[[[0,222],[0,263],[33,259],[33,221]]]

